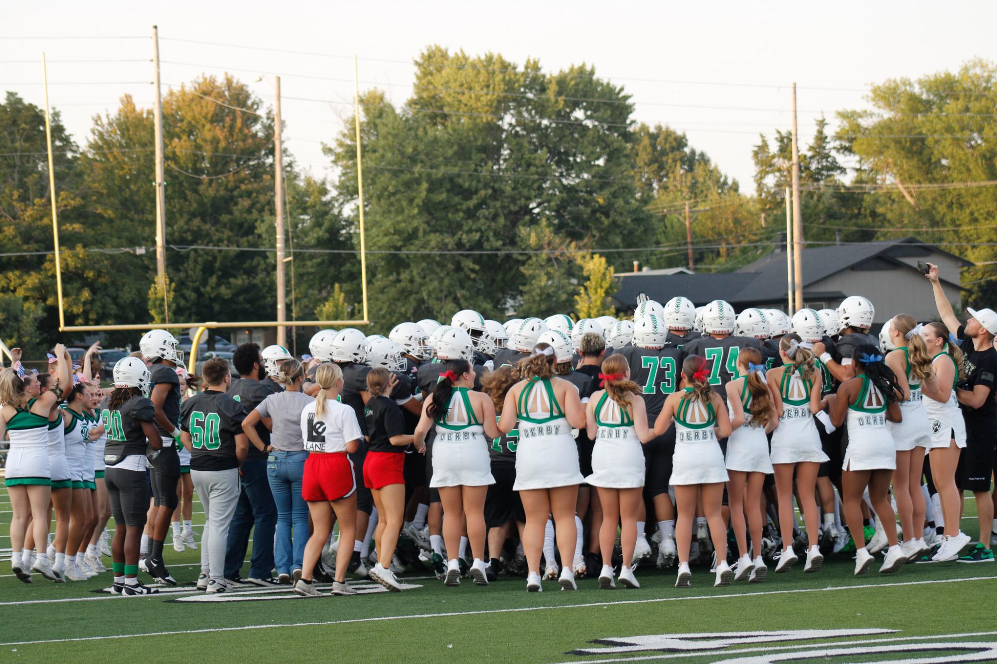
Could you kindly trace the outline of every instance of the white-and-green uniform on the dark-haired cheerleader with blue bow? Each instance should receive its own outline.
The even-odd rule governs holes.
[[[886,428],[886,399],[862,375],[862,388],[848,404],[848,449],[841,470],[896,470],[896,447]]]

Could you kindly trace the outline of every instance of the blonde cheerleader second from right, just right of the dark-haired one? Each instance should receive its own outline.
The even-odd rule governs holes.
[[[909,540],[901,547],[907,562],[913,562],[929,549],[924,542],[924,494],[921,492],[921,475],[924,472],[924,453],[931,442],[931,429],[924,411],[921,383],[930,380],[931,355],[921,337],[924,326],[917,325],[912,316],[898,314],[885,326],[891,349],[886,354],[886,365],[893,370],[896,382],[903,388],[900,401],[899,422],[886,422],[896,446],[896,470],[893,471],[893,497],[900,528]],[[885,349],[885,348],[884,348]]]

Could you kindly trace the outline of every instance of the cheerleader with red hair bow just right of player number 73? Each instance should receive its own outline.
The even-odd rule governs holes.
[[[660,436],[675,421],[675,455],[671,483],[675,489],[678,518],[679,573],[675,587],[689,587],[689,546],[696,499],[702,497],[703,511],[709,524],[713,547],[717,552],[717,577],[714,585],[730,585],[734,572],[727,564],[727,525],[720,514],[724,483],[730,479],[724,466],[719,438],[731,435],[731,422],[723,398],[709,383],[710,366],[703,357],[690,355],[682,362],[682,382],[678,391],[665,399],[654,423]]]

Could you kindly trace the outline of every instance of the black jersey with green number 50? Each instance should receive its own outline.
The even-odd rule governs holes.
[[[213,389],[183,402],[180,429],[190,434],[193,448],[190,450],[190,470],[218,471],[239,467],[235,457],[235,436],[242,433],[243,407],[228,394]]]

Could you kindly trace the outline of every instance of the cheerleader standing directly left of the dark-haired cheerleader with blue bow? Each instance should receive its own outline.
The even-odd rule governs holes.
[[[779,531],[783,552],[776,571],[787,571],[797,561],[793,551],[793,478],[796,475],[797,496],[807,526],[807,564],[804,571],[818,571],[824,555],[818,547],[821,515],[815,500],[817,474],[828,455],[821,449],[821,435],[814,415],[824,409],[827,399],[821,398],[821,371],[817,368],[812,344],[802,341],[797,333],[785,334],[779,340],[783,366],[769,371],[769,392],[779,413],[779,426],[772,434],[772,465],[776,474],[776,494],[779,499]]]

